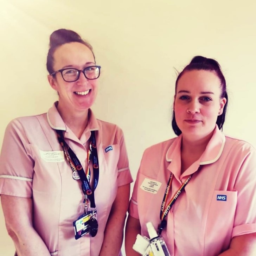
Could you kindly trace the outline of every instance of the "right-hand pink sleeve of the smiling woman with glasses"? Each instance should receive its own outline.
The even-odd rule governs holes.
[[[120,187],[129,183],[132,183],[133,178],[129,169],[129,161],[128,161],[123,132],[120,128],[118,130],[118,133],[119,133],[118,136],[120,137],[119,139],[120,154],[119,154],[119,160],[117,162],[117,169],[118,169],[117,185]]]

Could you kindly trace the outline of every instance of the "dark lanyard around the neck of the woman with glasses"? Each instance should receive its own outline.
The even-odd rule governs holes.
[[[85,195],[85,198],[88,197],[90,200],[90,206],[91,208],[96,208],[95,205],[95,198],[94,198],[94,191],[98,185],[99,180],[99,165],[98,165],[98,153],[97,153],[97,147],[96,147],[96,139],[95,139],[95,132],[91,131],[90,136],[90,149],[87,152],[87,171],[84,172],[84,169],[77,158],[76,154],[72,151],[72,149],[69,147],[69,145],[65,142],[64,136],[62,131],[56,130],[58,141],[60,145],[63,148],[63,151],[65,153],[66,159],[68,160],[70,167],[73,172],[77,172],[81,182],[82,182],[82,191]],[[90,186],[90,158],[92,156],[92,167],[93,167],[93,177],[94,177],[94,188],[92,189]]]

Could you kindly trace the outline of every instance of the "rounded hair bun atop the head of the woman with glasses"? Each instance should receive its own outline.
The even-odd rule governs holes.
[[[61,28],[52,32],[50,36],[50,48],[55,48],[59,45],[81,40],[82,38],[75,31]]]

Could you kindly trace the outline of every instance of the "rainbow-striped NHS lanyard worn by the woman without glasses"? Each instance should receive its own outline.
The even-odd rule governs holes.
[[[199,169],[199,168],[198,168]],[[177,192],[174,194],[174,196],[171,198],[171,200],[168,202],[168,204],[166,205],[166,201],[167,201],[167,197],[169,194],[169,190],[171,188],[172,185],[172,180],[173,180],[173,174],[170,174],[170,178],[168,180],[167,186],[166,186],[166,190],[165,190],[165,194],[164,194],[164,198],[162,200],[162,205],[161,205],[161,210],[160,210],[160,223],[158,225],[158,235],[160,236],[162,233],[162,230],[166,227],[166,216],[169,212],[169,210],[171,209],[171,207],[173,206],[173,204],[175,203],[175,201],[178,199],[178,197],[180,196],[181,192],[184,190],[185,186],[188,184],[188,182],[190,181],[190,179],[192,178],[192,175],[190,175],[190,177],[188,177],[185,182],[179,187],[179,189],[177,190]],[[165,207],[166,206],[166,207]]]

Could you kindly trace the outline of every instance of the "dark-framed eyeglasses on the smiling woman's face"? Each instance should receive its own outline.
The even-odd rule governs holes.
[[[93,80],[93,79],[97,79],[100,76],[101,66],[89,66],[82,70],[73,69],[73,68],[60,69],[51,73],[51,76],[54,76],[58,72],[61,73],[63,80],[66,82],[77,81],[79,79],[81,72],[83,72],[84,76],[87,79]]]

